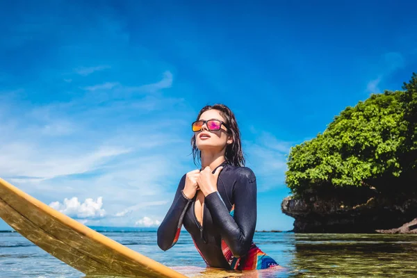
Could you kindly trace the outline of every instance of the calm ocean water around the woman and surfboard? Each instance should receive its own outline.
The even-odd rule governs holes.
[[[156,231],[101,233],[188,277],[417,277],[417,235],[256,232],[256,245],[284,270],[210,272],[186,231],[166,252],[156,245]],[[0,277],[85,275],[19,234],[2,232]]]

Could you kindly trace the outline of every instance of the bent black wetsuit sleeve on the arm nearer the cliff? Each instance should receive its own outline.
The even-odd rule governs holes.
[[[229,212],[218,192],[204,201],[211,217],[235,257],[250,250],[256,228],[256,177],[250,168],[239,170],[234,184],[234,212]]]

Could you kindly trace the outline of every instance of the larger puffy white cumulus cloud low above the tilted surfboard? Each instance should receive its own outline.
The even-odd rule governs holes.
[[[51,202],[49,206],[72,218],[104,218],[106,215],[104,208],[101,208],[103,206],[103,197],[98,197],[97,201],[88,198],[82,204],[77,197],[65,198],[63,204]]]

